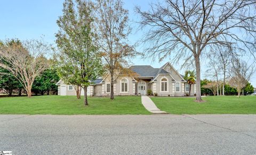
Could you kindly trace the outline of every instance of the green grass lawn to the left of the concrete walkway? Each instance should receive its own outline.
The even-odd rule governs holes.
[[[141,104],[140,97],[110,98],[89,97],[89,106],[83,104],[83,97],[34,96],[0,98],[0,114],[150,114]]]

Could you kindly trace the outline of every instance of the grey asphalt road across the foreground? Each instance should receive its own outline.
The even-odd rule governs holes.
[[[13,154],[256,154],[256,115],[0,115]]]

